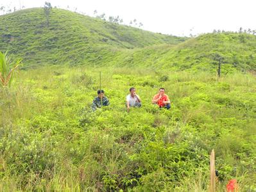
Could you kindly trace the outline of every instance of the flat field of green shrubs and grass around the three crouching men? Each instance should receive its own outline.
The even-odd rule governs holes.
[[[91,112],[99,86],[110,106]],[[137,88],[142,108],[126,113]],[[151,98],[164,86],[171,110]],[[0,191],[208,191],[256,189],[256,79],[241,73],[44,67],[0,88]]]

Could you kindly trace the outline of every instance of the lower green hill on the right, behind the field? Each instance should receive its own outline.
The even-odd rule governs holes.
[[[194,72],[216,72],[221,58],[224,74],[235,70],[256,70],[256,36],[246,33],[211,33],[191,38],[178,45],[155,45],[134,49],[123,54],[123,57],[116,58],[117,63],[123,65]],[[114,61],[115,59],[112,62]]]

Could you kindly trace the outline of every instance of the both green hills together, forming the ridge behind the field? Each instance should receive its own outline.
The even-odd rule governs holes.
[[[31,65],[136,66],[222,72],[255,70],[256,36],[210,33],[196,38],[161,35],[54,8],[2,15],[0,51]]]

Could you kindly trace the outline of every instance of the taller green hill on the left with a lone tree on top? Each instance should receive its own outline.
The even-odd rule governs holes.
[[[0,23],[0,51],[21,56],[26,65],[94,63],[104,56],[98,54],[102,49],[177,44],[186,39],[55,8],[49,14],[49,26],[43,8],[1,15]]]

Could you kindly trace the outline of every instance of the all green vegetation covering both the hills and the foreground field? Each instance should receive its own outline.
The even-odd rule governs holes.
[[[256,190],[254,35],[188,39],[44,14],[0,16],[0,51],[24,58],[0,88],[1,191],[207,191],[212,148],[218,191],[232,178]],[[110,106],[92,112],[99,71]],[[127,113],[131,86],[142,108]],[[160,87],[171,110],[151,104]]]

